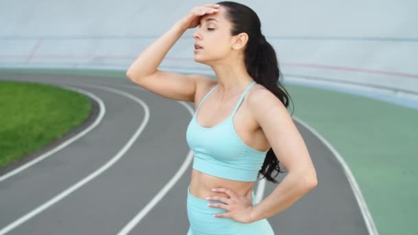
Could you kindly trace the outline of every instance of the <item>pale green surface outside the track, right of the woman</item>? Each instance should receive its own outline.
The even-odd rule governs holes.
[[[380,235],[418,234],[418,111],[325,89],[286,88],[294,115],[349,165]]]

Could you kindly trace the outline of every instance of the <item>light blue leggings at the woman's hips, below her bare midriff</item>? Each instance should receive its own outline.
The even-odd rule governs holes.
[[[214,214],[225,213],[222,208],[210,208],[208,203],[221,203],[199,199],[190,194],[187,188],[187,216],[190,223],[187,235],[274,235],[267,219],[253,223],[241,223],[230,218],[217,218]],[[255,205],[255,195],[252,191],[252,205]]]

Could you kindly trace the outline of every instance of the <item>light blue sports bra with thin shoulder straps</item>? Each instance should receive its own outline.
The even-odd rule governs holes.
[[[213,127],[200,126],[196,117],[203,101],[219,85],[202,98],[186,131],[186,141],[195,155],[192,168],[215,177],[236,181],[256,181],[267,151],[260,151],[245,144],[236,133],[232,122],[245,93],[254,84],[255,81],[245,89],[232,115]]]

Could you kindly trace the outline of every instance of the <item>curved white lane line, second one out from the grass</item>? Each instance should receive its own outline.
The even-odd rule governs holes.
[[[106,164],[104,164],[98,170],[91,173],[89,176],[87,176],[84,179],[78,181],[73,186],[67,188],[67,190],[61,192],[60,194],[56,195],[54,198],[52,198],[49,201],[43,203],[38,208],[32,210],[28,214],[25,214],[20,219],[17,219],[17,221],[14,221],[13,223],[10,223],[6,227],[4,227],[2,230],[0,230],[0,235],[3,235],[7,232],[10,232],[15,227],[21,225],[22,223],[25,223],[25,221],[30,220],[32,217],[36,216],[36,214],[39,214],[39,213],[43,212],[44,210],[49,208],[51,205],[54,205],[54,203],[60,201],[61,199],[67,197],[69,194],[71,194],[72,192],[74,192],[78,188],[84,186],[86,183],[91,181],[91,179],[94,179],[94,178],[98,177],[98,175],[100,175],[102,172],[104,172],[104,170],[107,170],[108,168],[110,168],[113,164],[115,164],[115,162],[117,162],[121,157],[123,157],[124,153],[126,153],[127,150],[129,150],[129,148],[135,142],[135,140],[140,135],[140,133],[142,133],[142,131],[144,130],[144,127],[148,123],[148,120],[149,120],[148,106],[145,104],[145,102],[136,98],[135,96],[131,95],[130,93],[126,93],[124,91],[119,91],[117,89],[112,89],[112,88],[109,88],[109,87],[102,87],[102,86],[95,87],[95,86],[88,86],[88,85],[83,85],[83,86],[84,87],[94,87],[94,88],[97,88],[97,89],[103,89],[103,90],[107,90],[107,91],[110,91],[110,92],[113,92],[113,93],[118,93],[122,96],[125,96],[127,98],[130,98],[130,99],[134,100],[135,102],[137,102],[138,104],[140,104],[144,108],[144,111],[145,111],[144,120],[142,120],[141,125],[139,126],[139,128],[137,128],[137,131],[135,131],[135,133],[133,134],[131,139],[129,139],[129,142],[127,142],[123,146],[123,148],[120,149],[119,152],[114,157],[112,157]]]

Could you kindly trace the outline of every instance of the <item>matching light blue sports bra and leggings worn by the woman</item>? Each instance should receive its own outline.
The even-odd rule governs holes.
[[[255,181],[265,159],[267,151],[262,152],[244,144],[235,132],[232,118],[245,94],[256,84],[252,82],[245,89],[232,115],[213,127],[200,126],[197,123],[197,111],[204,100],[217,89],[218,85],[203,97],[186,131],[186,139],[195,157],[193,168],[208,175],[237,181]],[[199,199],[190,194],[187,188],[187,216],[190,223],[187,235],[274,235],[267,219],[253,223],[241,223],[230,218],[217,218],[214,214],[228,212],[222,208],[211,208],[208,203],[222,203]],[[255,205],[254,190],[252,205]]]

